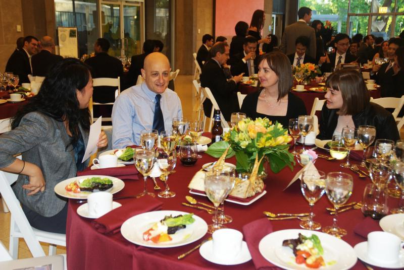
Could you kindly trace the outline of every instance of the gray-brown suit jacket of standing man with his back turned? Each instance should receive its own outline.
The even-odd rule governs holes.
[[[295,22],[285,27],[281,41],[281,51],[285,54],[291,54],[296,51],[296,38],[307,36],[310,39],[310,45],[307,48],[308,54],[316,59],[316,32],[305,22]]]

